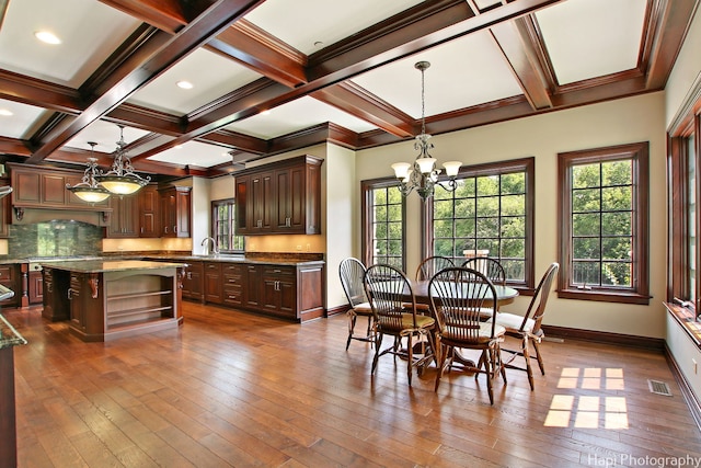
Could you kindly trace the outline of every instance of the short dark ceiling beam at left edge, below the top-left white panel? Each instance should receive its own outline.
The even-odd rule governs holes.
[[[77,90],[7,70],[0,70],[0,98],[69,114],[82,111]]]

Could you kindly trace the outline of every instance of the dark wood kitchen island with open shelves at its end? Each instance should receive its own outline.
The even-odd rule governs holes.
[[[176,329],[186,264],[141,260],[42,262],[44,308],[83,341]]]

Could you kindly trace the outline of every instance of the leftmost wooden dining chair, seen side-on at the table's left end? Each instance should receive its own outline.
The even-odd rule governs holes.
[[[348,309],[348,339],[346,340],[346,351],[350,346],[352,340],[364,341],[372,344],[375,342],[375,332],[372,329],[372,308],[365,295],[365,285],[363,278],[365,276],[365,265],[358,259],[349,256],[341,261],[338,265],[338,275],[341,284],[346,294],[350,308]],[[355,324],[358,317],[366,317],[368,327],[365,336],[354,334]]]

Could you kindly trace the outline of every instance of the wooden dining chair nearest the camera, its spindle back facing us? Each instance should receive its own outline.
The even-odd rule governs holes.
[[[450,370],[457,350],[481,351],[479,362],[463,368],[486,376],[490,403],[494,404],[492,380],[497,374],[506,384],[506,373],[502,362],[501,343],[506,330],[494,320],[482,320],[484,310],[496,315],[496,290],[482,273],[463,267],[445,269],[436,273],[428,283],[433,310],[436,313],[436,353],[437,367],[435,391],[446,369]]]

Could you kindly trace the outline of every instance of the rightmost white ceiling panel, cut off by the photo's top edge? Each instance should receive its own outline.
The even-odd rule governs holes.
[[[560,84],[637,66],[647,2],[568,0],[536,16]]]

